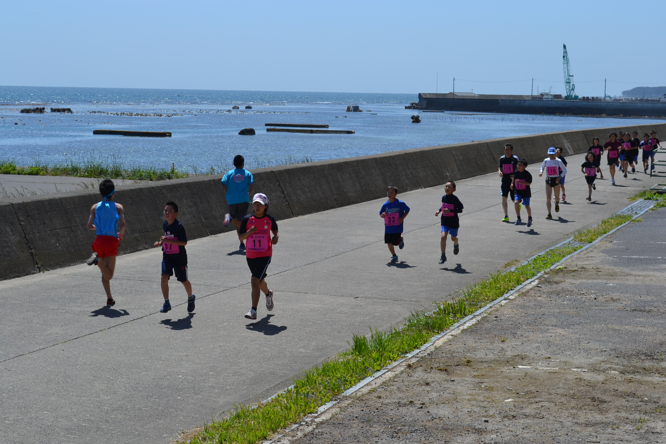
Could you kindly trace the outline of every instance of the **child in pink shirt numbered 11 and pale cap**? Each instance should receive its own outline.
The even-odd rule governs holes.
[[[273,246],[278,243],[278,223],[268,211],[268,198],[266,194],[257,193],[252,198],[254,212],[248,214],[240,221],[238,239],[247,240],[246,260],[252,272],[252,307],[245,315],[248,319],[256,319],[256,308],[259,305],[259,292],[266,295],[266,310],[273,310],[273,290],[266,284],[266,270],[273,256]],[[273,237],[270,238],[270,234]]]

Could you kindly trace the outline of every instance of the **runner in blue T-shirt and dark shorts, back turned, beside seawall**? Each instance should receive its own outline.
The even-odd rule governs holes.
[[[236,226],[236,232],[240,226],[240,220],[248,213],[250,196],[254,192],[254,177],[245,168],[245,158],[238,154],[234,157],[233,170],[228,171],[222,177],[222,191],[226,194],[226,203],[229,212],[224,214],[224,226],[229,222]],[[238,250],[245,250],[245,244],[240,242]]]

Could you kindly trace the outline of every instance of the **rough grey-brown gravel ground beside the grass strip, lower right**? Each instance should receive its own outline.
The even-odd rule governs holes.
[[[643,219],[278,442],[666,442],[666,208]]]

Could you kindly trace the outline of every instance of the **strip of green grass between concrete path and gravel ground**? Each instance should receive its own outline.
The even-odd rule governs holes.
[[[578,242],[593,242],[599,236],[631,220],[631,216],[612,216],[597,226],[576,234]],[[254,444],[276,431],[298,423],[346,389],[388,365],[391,361],[420,347],[458,320],[506,294],[525,280],[583,248],[564,244],[551,248],[527,263],[507,272],[498,272],[462,290],[452,302],[435,302],[432,312],[414,311],[400,328],[388,331],[370,329],[370,335],[354,335],[350,348],[333,359],[304,371],[294,385],[270,401],[256,405],[236,405],[221,420],[213,419],[198,429],[182,433],[179,443]]]

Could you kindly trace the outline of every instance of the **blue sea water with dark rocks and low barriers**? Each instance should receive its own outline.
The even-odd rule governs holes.
[[[405,109],[417,100],[416,93],[0,87],[0,160],[26,165],[94,158],[195,172],[224,169],[236,154],[250,167],[265,166],[650,121]],[[347,105],[364,112],[346,112]],[[47,112],[20,112],[33,107]],[[49,112],[51,107],[73,114]],[[412,123],[412,114],[422,122]],[[266,123],[328,124],[355,133],[266,132]],[[242,128],[254,128],[256,135],[238,135]],[[96,129],[169,131],[172,137],[93,135]],[[599,134],[602,141],[606,136]]]

